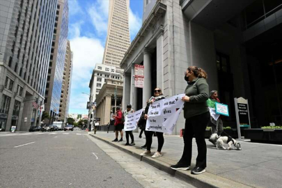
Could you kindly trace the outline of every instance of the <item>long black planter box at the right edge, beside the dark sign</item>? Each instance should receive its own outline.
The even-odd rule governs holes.
[[[251,141],[282,143],[282,130],[248,129],[244,133],[245,139]]]

